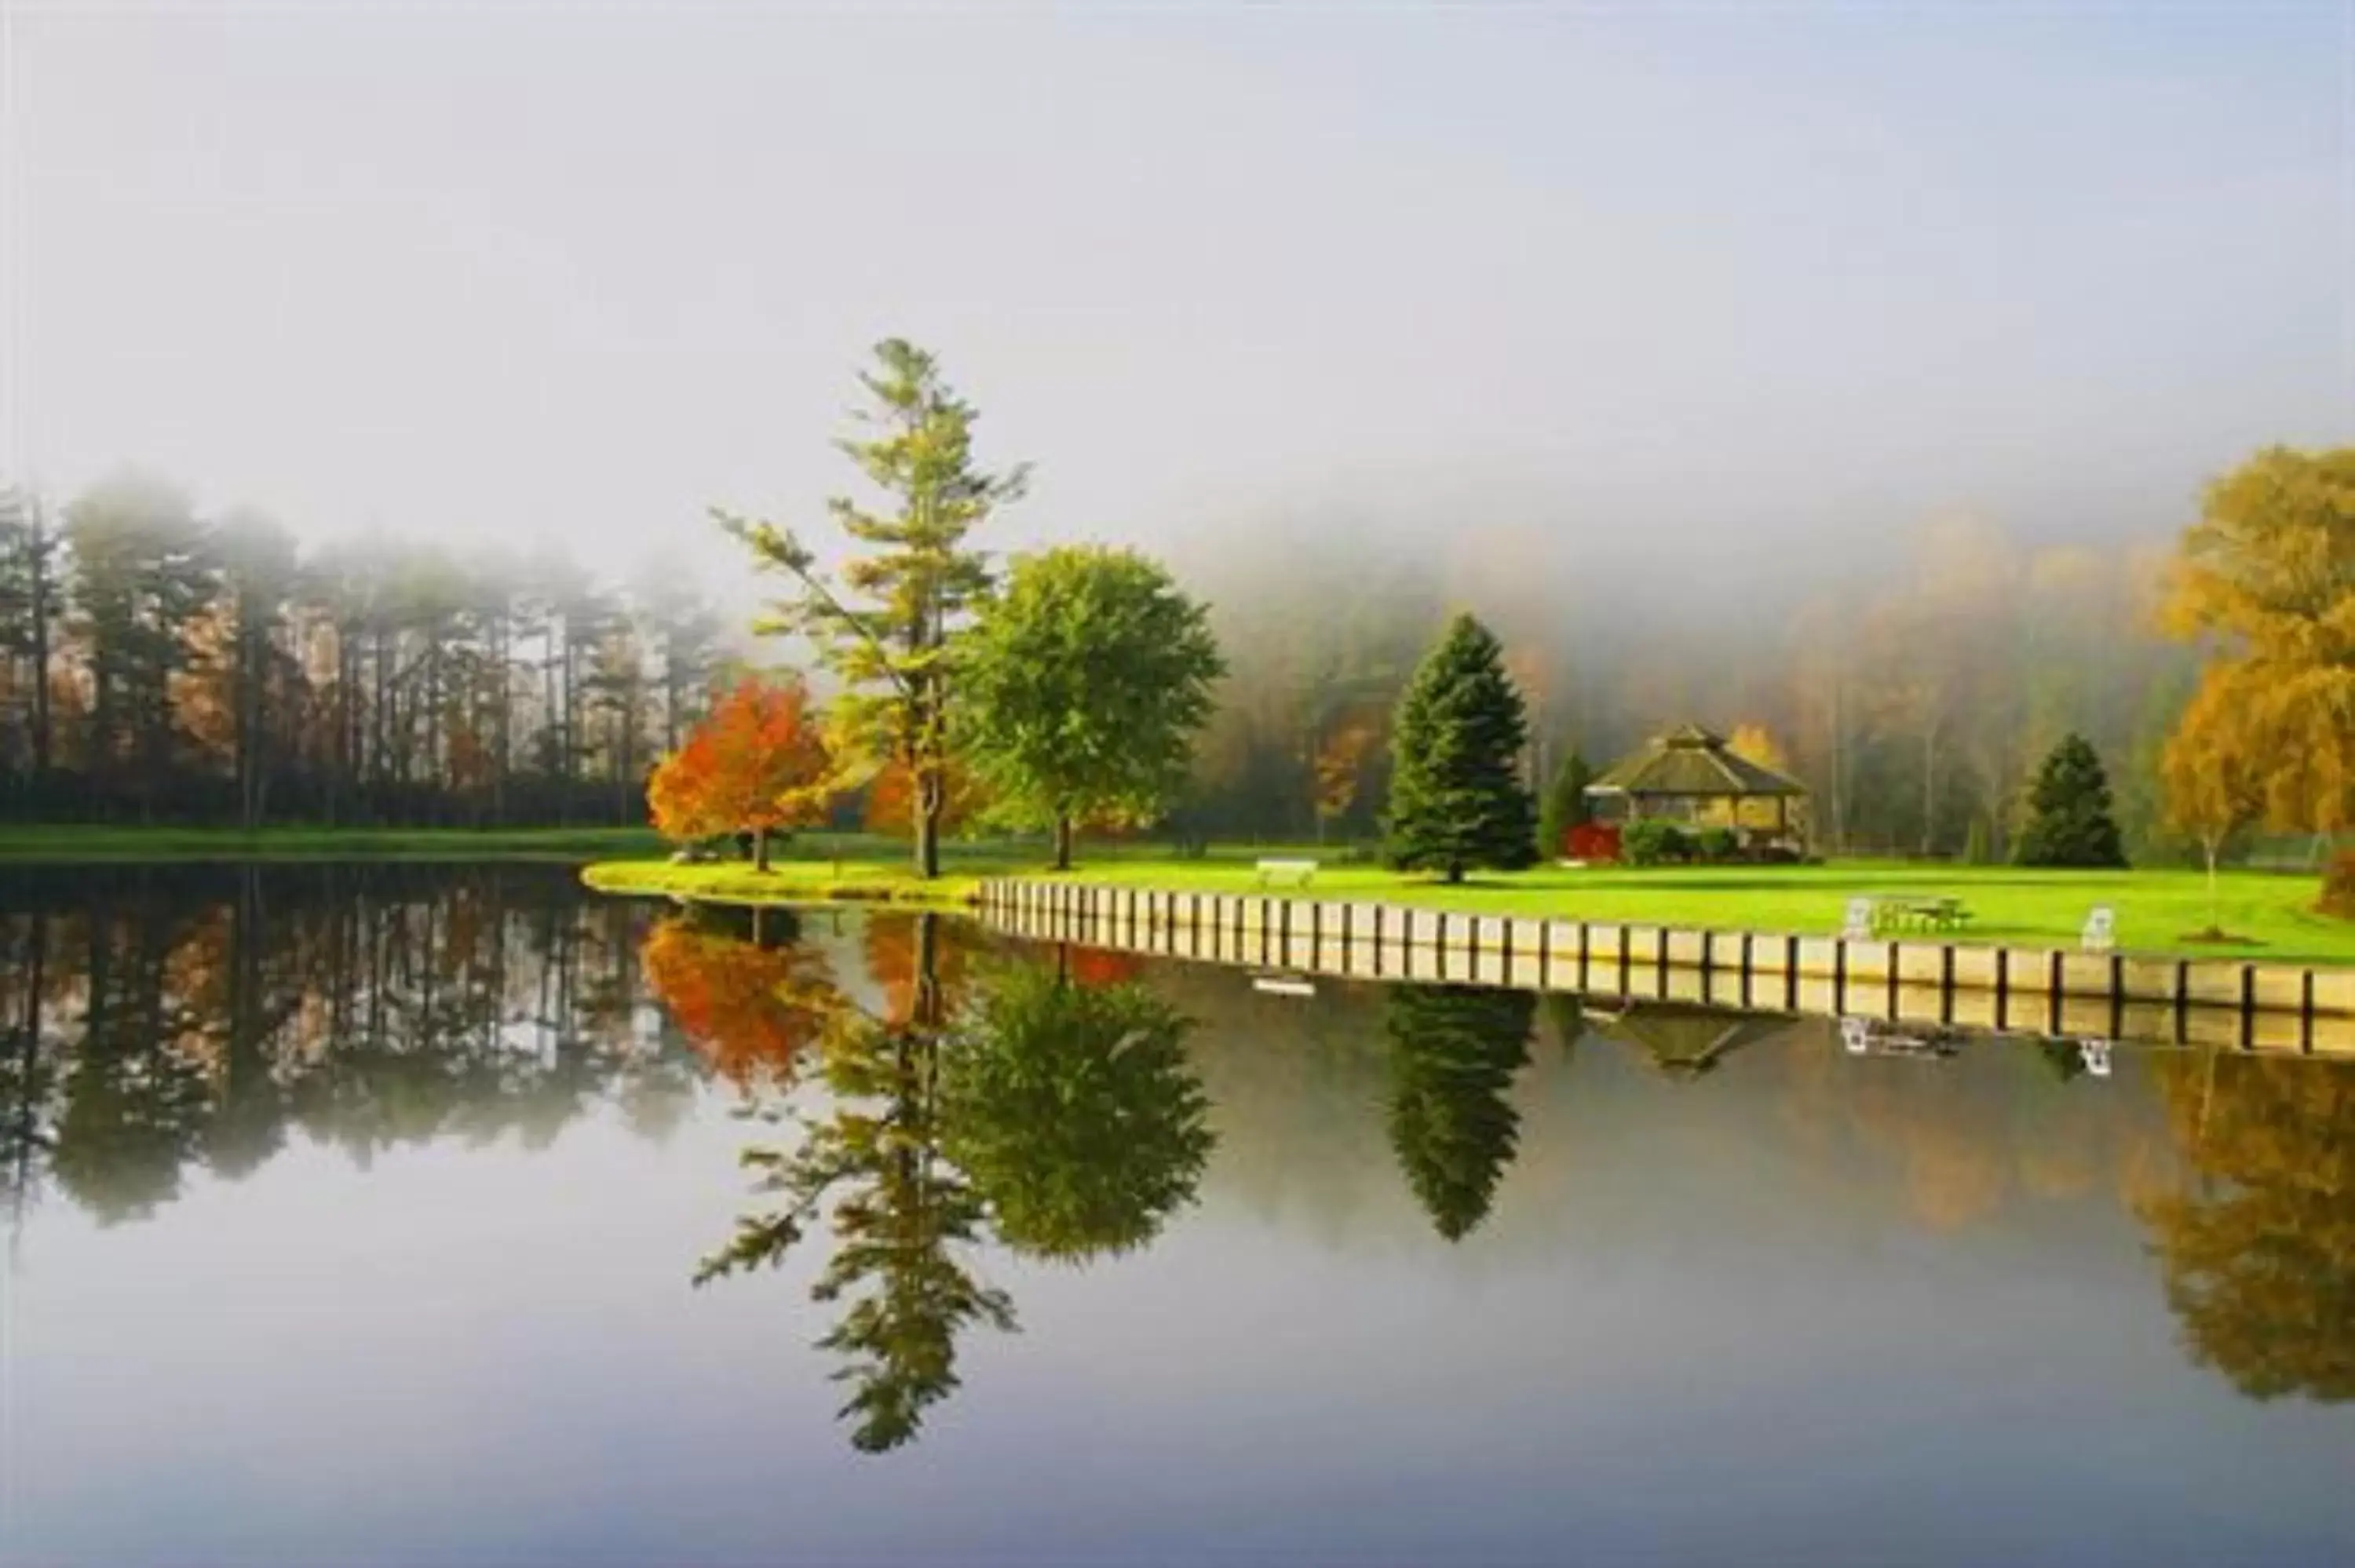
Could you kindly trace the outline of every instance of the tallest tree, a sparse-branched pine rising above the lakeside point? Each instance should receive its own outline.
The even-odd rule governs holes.
[[[801,596],[761,631],[810,636],[848,683],[836,704],[843,749],[895,763],[911,779],[909,826],[916,876],[940,876],[940,824],[949,808],[951,633],[989,589],[989,567],[966,537],[1027,485],[1027,469],[984,473],[973,461],[980,417],[940,374],[937,360],[902,339],[876,346],[864,372],[871,436],[843,452],[890,501],[869,511],[834,497],[829,511],[871,553],[843,567],[838,591],[791,530],[714,509],[763,570],[784,572]]]

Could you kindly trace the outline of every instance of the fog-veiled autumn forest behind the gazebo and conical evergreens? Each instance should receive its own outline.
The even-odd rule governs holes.
[[[1936,518],[1860,560],[1778,565],[1752,593],[1575,567],[1575,542],[1458,532],[1425,553],[1293,537],[1194,563],[1229,676],[1192,812],[1213,833],[1312,838],[1338,732],[1373,727],[1328,824],[1371,841],[1387,725],[1422,647],[1472,607],[1528,702],[1528,784],[1594,768],[1677,723],[1747,732],[1816,791],[1818,843],[2006,859],[2037,763],[2063,735],[2108,763],[2129,855],[2188,850],[2162,819],[2160,756],[2200,650],[2157,626],[2169,542],[2030,544]],[[1618,553],[1618,558],[1625,558]],[[1738,567],[1729,567],[1738,572]],[[1973,833],[1973,824],[1978,831]]]

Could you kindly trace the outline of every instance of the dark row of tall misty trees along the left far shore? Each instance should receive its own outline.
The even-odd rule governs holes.
[[[725,624],[563,558],[297,549],[155,478],[0,492],[0,815],[633,824]]]

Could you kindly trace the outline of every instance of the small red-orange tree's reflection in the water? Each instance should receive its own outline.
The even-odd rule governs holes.
[[[688,1043],[737,1085],[791,1081],[841,1008],[824,956],[798,942],[763,946],[669,918],[648,932],[641,961]]]

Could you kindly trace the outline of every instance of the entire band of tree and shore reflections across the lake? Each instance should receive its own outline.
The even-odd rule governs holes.
[[[1905,1234],[1919,1271],[2122,1234],[2211,1387],[2355,1396],[2355,1071],[2120,1050],[2103,1076],[2082,1041],[1898,1034],[1851,1055],[1827,1022],[1451,984],[1276,998],[951,918],[589,899],[568,869],[14,871],[0,1196],[127,1236],[304,1144],[367,1168],[744,1104],[737,1234],[714,1231],[739,1177],[697,1165],[711,1231],[629,1267],[683,1281],[718,1243],[704,1278],[758,1269],[723,1295],[836,1361],[862,1450],[918,1436],[1017,1297],[1161,1264],[1210,1212],[1429,1276],[1641,1255],[1677,1194],[1691,1248],[1736,1245],[1766,1224],[1724,1220],[1750,1189],[1785,1245]]]

